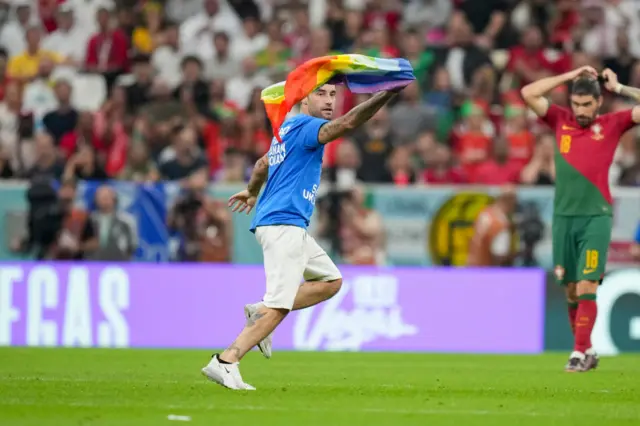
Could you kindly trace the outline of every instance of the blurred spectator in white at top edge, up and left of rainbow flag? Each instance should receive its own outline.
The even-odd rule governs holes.
[[[217,33],[228,35],[242,34],[242,24],[238,15],[226,0],[202,0],[204,10],[186,19],[180,27],[180,39],[190,54],[196,52],[202,58],[213,57],[212,41]],[[175,18],[174,18],[175,19]],[[228,38],[228,37],[227,37]]]

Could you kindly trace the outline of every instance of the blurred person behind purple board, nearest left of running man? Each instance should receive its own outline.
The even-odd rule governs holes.
[[[177,259],[183,262],[229,262],[232,252],[231,215],[224,203],[206,194],[207,180],[194,175],[185,181],[167,219],[171,231],[180,236]]]

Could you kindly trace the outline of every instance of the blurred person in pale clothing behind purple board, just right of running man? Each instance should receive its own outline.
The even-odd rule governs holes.
[[[380,215],[364,205],[364,190],[356,185],[342,199],[339,235],[341,257],[354,265],[383,265],[385,235]]]

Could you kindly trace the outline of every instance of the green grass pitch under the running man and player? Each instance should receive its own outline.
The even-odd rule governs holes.
[[[258,390],[234,392],[200,375],[209,355],[0,348],[0,425],[640,424],[640,356],[567,374],[566,354],[252,352]]]

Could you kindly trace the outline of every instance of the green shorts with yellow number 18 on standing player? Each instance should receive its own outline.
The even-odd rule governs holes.
[[[553,264],[558,284],[601,281],[612,227],[611,216],[553,216]]]

